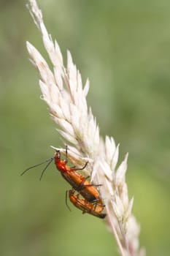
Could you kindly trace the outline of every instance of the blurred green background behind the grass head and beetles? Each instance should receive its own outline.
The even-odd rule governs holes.
[[[45,24],[85,81],[101,135],[128,151],[127,182],[147,255],[169,255],[170,1],[40,1]],[[101,220],[65,206],[51,165],[20,173],[62,146],[26,40],[46,57],[26,1],[0,1],[0,255],[118,255]]]

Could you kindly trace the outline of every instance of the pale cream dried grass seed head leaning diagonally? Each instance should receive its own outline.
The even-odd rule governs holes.
[[[63,142],[69,145],[69,159],[78,167],[88,160],[85,172],[93,183],[102,184],[98,189],[106,205],[106,221],[115,236],[120,255],[144,256],[144,250],[139,249],[139,225],[131,214],[134,199],[129,200],[125,182],[128,154],[117,167],[119,145],[115,145],[112,137],[106,136],[105,140],[100,137],[96,118],[87,105],[89,80],[83,86],[80,71],[69,50],[64,67],[58,42],[53,42],[47,32],[36,1],[29,0],[28,8],[42,34],[53,70],[30,42],[26,42],[27,50],[39,72],[42,99],[47,103],[53,121],[60,127],[58,132]],[[65,152],[65,148],[59,149]]]

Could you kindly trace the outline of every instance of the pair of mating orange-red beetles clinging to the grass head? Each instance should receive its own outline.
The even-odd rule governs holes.
[[[104,217],[106,217],[106,214],[102,213],[102,211],[104,210],[104,204],[102,203],[102,200],[96,188],[101,185],[90,183],[90,181],[87,180],[88,177],[85,178],[85,176],[82,176],[82,174],[77,171],[85,169],[86,165],[88,165],[88,162],[86,162],[82,168],[70,167],[69,165],[67,165],[68,157],[66,146],[66,158],[61,159],[61,152],[59,150],[56,151],[54,157],[51,157],[50,159],[47,159],[45,161],[48,163],[45,169],[42,170],[40,179],[42,178],[43,173],[45,173],[45,170],[53,160],[55,162],[57,169],[61,172],[63,178],[72,186],[72,189],[69,190],[69,199],[74,204],[74,206],[79,208],[82,211],[82,214],[88,213],[98,218],[104,219]],[[45,162],[29,167],[28,169],[24,170],[24,172],[21,173],[21,175],[26,173],[31,168],[42,165]],[[83,198],[80,198],[80,195]]]

